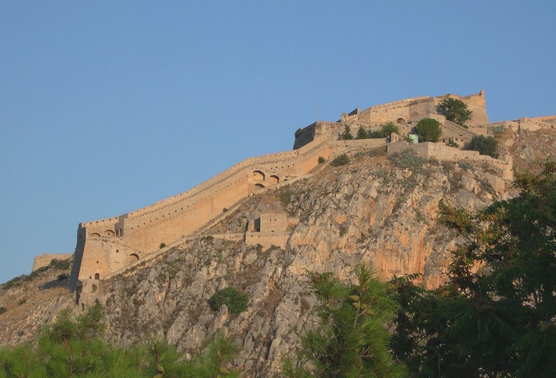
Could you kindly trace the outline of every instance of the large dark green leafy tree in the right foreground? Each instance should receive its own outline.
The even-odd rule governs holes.
[[[556,163],[516,174],[515,186],[517,197],[482,211],[441,204],[441,222],[465,240],[448,284],[398,279],[393,349],[416,377],[554,377]]]

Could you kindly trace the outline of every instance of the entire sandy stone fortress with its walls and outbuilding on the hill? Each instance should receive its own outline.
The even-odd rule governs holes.
[[[437,113],[436,106],[446,97],[461,99],[473,111],[473,117],[468,122],[469,129],[453,124]],[[389,153],[413,148],[427,158],[489,163],[496,172],[491,184],[495,190],[502,191],[505,183],[512,179],[512,159],[503,151],[499,159],[494,159],[480,156],[475,151],[448,147],[440,142],[410,145],[398,140],[397,134],[389,138],[366,140],[339,138],[346,125],[352,130],[357,130],[359,126],[378,129],[386,122],[395,122],[404,135],[423,117],[434,117],[441,122],[443,139],[457,140],[463,145],[475,134],[489,133],[485,105],[484,91],[481,90],[478,94],[466,97],[446,94],[395,101],[362,111],[357,108],[350,113],[343,113],[337,122],[315,122],[297,130],[292,151],[247,158],[199,186],[151,206],[80,223],[70,289],[77,291],[79,303],[90,300],[88,293],[95,293],[101,287],[102,280],[164,253],[172,247],[172,243],[184,243],[188,238],[190,240],[201,235],[205,227],[222,217],[225,209],[234,208],[253,192],[278,188],[288,181],[310,174],[311,170],[319,166],[319,157],[328,161],[339,154],[352,154],[361,149],[381,146],[387,146]],[[545,121],[530,119],[527,122],[538,126],[539,122]],[[284,214],[263,214],[260,220],[247,227],[245,234],[225,234],[220,237],[244,240],[245,243],[285,246],[288,221]]]

